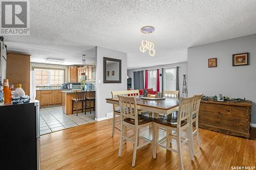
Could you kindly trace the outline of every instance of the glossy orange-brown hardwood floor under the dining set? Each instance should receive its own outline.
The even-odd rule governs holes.
[[[133,145],[123,145],[118,157],[120,132],[112,134],[112,120],[103,120],[41,136],[41,169],[179,169],[178,154],[152,145],[137,151],[132,167]],[[256,166],[256,141],[200,129],[201,145],[189,160],[188,147],[182,150],[184,169],[231,169],[231,166]],[[176,147],[176,144],[173,143]],[[255,169],[255,168],[254,168]]]

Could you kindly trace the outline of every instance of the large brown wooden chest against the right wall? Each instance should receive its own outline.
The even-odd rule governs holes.
[[[228,135],[250,138],[252,102],[201,101],[199,127]]]

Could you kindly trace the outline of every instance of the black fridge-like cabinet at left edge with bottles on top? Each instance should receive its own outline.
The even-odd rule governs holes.
[[[0,106],[0,169],[40,169],[39,101]]]

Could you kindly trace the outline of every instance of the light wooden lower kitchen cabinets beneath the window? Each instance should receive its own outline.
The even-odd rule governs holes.
[[[40,107],[61,105],[61,90],[36,90]]]

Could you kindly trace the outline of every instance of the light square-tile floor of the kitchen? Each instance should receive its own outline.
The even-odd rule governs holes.
[[[95,111],[66,115],[62,107],[48,107],[40,109],[40,135],[67,129],[79,125],[95,122]]]

